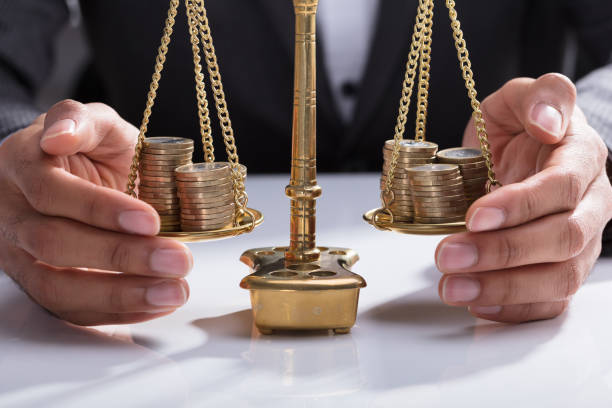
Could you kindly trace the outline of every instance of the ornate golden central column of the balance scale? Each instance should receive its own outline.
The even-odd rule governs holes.
[[[290,246],[288,262],[319,259],[316,247],[317,184],[317,45],[318,0],[293,0],[295,9],[295,77],[291,181],[285,193],[291,199]]]

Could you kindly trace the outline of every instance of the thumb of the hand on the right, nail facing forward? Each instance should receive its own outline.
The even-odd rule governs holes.
[[[543,144],[558,143],[576,105],[576,87],[564,75],[518,78],[483,102],[486,119],[512,133],[527,132]]]

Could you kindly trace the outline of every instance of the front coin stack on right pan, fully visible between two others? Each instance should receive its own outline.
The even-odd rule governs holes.
[[[427,164],[413,167],[409,174],[414,221],[442,224],[465,220],[467,206],[463,178],[455,164]]]

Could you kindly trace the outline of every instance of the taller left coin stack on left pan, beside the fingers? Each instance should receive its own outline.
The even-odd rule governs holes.
[[[181,137],[145,139],[140,155],[138,198],[151,204],[161,218],[161,232],[181,224],[174,169],[191,163],[193,140]]]

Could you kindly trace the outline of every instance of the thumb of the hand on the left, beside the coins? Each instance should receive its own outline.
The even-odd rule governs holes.
[[[40,139],[42,150],[55,156],[69,156],[94,150],[111,133],[125,134],[127,122],[104,104],[82,104],[65,100],[45,116]],[[132,135],[133,132],[127,132]]]

